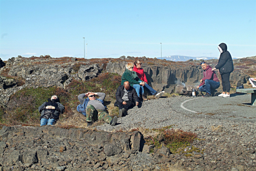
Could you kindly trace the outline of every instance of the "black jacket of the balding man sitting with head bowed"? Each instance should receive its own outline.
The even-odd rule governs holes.
[[[139,97],[136,93],[136,90],[132,86],[130,86],[129,92],[127,95],[128,95],[128,99],[132,101],[132,105],[135,105],[135,102],[139,102]],[[124,85],[120,85],[116,90],[116,102],[123,103],[124,102],[124,100],[122,99],[123,96],[124,96]],[[115,105],[116,105],[116,102],[115,102]]]

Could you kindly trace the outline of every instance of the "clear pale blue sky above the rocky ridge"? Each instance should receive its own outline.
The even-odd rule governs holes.
[[[256,1],[0,0],[0,57],[256,55]]]

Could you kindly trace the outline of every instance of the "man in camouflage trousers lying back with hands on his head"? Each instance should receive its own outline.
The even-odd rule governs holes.
[[[95,98],[95,95],[99,98]],[[104,106],[105,93],[92,93],[88,92],[85,94],[80,94],[78,100],[81,105],[78,105],[76,110],[81,112],[86,116],[87,126],[92,125],[93,121],[104,120],[106,123],[109,123],[111,126],[115,126],[117,122],[117,117],[113,119],[106,112],[106,106]],[[85,98],[88,97],[88,98]]]

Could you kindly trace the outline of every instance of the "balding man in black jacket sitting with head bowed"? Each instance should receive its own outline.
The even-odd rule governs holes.
[[[116,90],[115,106],[119,108],[119,117],[127,115],[127,110],[132,106],[139,105],[139,97],[136,90],[130,86],[130,82],[124,82]]]

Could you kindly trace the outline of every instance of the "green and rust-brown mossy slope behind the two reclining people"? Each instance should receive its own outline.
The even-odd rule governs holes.
[[[60,115],[57,126],[62,128],[84,128],[87,126],[85,117],[76,111],[79,104],[77,96],[82,93],[105,92],[105,104],[109,108],[110,115],[118,115],[117,107],[114,107],[115,93],[121,83],[121,76],[113,73],[102,73],[89,81],[73,80],[66,89],[58,87],[24,88],[10,97],[8,108],[0,109],[0,123],[7,125],[37,125],[40,124],[38,107],[52,95],[60,98],[60,103],[65,107]],[[98,122],[102,124],[104,122]]]

